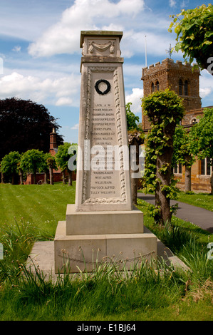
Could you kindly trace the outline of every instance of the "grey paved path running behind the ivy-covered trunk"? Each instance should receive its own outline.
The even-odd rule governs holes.
[[[155,195],[137,193],[137,197],[139,199],[149,202],[152,205],[155,205]],[[176,217],[185,221],[192,222],[194,223],[194,225],[201,227],[203,230],[207,230],[208,232],[213,233],[213,212],[176,200],[171,200],[170,204],[178,204],[177,213],[175,215]]]

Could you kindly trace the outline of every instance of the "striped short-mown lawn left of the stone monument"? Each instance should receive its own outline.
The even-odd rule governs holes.
[[[30,222],[54,237],[58,221],[66,220],[66,205],[75,203],[76,188],[54,185],[0,184],[0,227]]]

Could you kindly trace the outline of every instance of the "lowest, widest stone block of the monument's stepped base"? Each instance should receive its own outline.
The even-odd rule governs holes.
[[[120,267],[123,260],[130,269],[138,259],[157,256],[157,240],[152,233],[68,235],[66,221],[58,222],[54,247],[56,273],[64,272],[64,264],[68,264],[70,272],[78,272],[78,268],[92,272],[96,262],[111,259]]]

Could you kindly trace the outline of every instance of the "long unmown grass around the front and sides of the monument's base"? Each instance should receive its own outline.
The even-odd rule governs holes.
[[[172,225],[163,230],[155,227],[155,232],[182,258],[189,271],[168,266],[163,259],[151,262],[137,259],[128,269],[127,264],[120,267],[114,259],[99,263],[98,257],[94,257],[93,272],[87,272],[85,267],[84,272],[71,275],[66,265],[56,282],[46,278],[36,265],[26,266],[33,243],[52,238],[46,226],[44,230],[40,227],[24,220],[1,227],[4,259],[0,260],[0,319],[90,320],[111,316],[126,320],[139,317],[138,313],[147,313],[154,319],[152,314],[165,309],[171,314],[171,306],[179,308],[196,289],[204,292],[207,283],[212,287],[209,250],[185,227]],[[204,304],[203,309],[209,308],[207,294],[208,305]],[[188,305],[189,301],[187,309]]]

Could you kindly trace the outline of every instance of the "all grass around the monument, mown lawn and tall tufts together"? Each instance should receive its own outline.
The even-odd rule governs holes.
[[[0,184],[0,320],[211,321],[212,262],[207,243],[212,236],[189,222],[172,218],[174,229],[145,225],[189,264],[185,272],[167,264],[142,262],[132,272],[98,267],[93,274],[56,284],[36,279],[24,267],[36,239],[53,239],[66,205],[75,202],[73,187]],[[137,206],[146,212],[147,202]],[[21,279],[21,274],[25,279]]]

